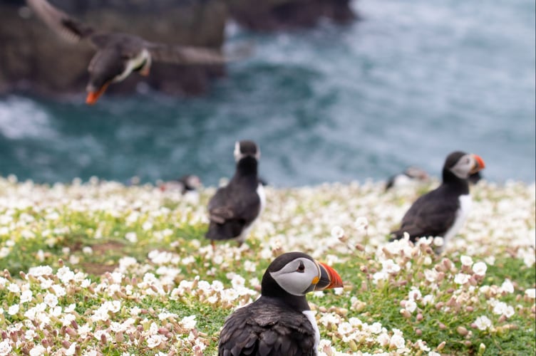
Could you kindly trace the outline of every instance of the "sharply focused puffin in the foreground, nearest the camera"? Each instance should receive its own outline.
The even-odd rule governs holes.
[[[218,355],[316,355],[320,332],[305,295],[342,286],[333,268],[311,256],[282,254],[264,272],[260,298],[225,320]]]

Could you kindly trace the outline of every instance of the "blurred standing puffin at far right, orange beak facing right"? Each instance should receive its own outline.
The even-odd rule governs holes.
[[[445,246],[469,214],[472,204],[469,176],[484,167],[484,161],[478,155],[460,151],[450,153],[443,165],[443,182],[413,203],[402,218],[400,229],[391,232],[393,239],[401,239],[404,232],[409,234],[411,241],[422,236],[442,236]]]

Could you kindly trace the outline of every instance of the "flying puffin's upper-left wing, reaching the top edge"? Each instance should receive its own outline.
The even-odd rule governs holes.
[[[66,41],[77,43],[95,33],[93,27],[56,9],[46,0],[26,0],[26,2],[48,27],[66,39]]]

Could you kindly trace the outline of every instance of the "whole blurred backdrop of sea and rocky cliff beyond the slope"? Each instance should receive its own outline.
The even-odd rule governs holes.
[[[0,174],[142,182],[234,172],[235,140],[278,187],[440,176],[449,152],[483,177],[535,181],[534,0],[51,1],[153,41],[254,43],[224,67],[153,66],[84,103],[88,45],[24,1],[0,1]],[[252,6],[254,3],[255,6]]]

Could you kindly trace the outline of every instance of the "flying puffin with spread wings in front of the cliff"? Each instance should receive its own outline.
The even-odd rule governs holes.
[[[88,66],[86,103],[94,104],[110,83],[124,80],[133,71],[149,75],[152,61],[175,64],[222,64],[227,58],[214,49],[153,43],[128,33],[101,32],[81,23],[46,0],[26,0],[33,12],[53,31],[71,43],[88,39],[96,53]]]

